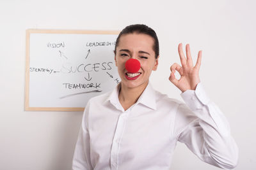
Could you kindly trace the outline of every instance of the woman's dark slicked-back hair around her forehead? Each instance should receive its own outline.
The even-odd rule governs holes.
[[[156,32],[148,27],[147,25],[144,24],[134,24],[134,25],[129,25],[125,27],[118,35],[116,38],[116,44],[115,44],[115,54],[116,54],[116,46],[118,46],[120,38],[124,34],[132,34],[132,33],[137,33],[137,34],[147,34],[148,36],[151,36],[154,39],[154,45],[153,45],[153,50],[156,54],[156,59],[159,55],[159,41],[156,35]]]

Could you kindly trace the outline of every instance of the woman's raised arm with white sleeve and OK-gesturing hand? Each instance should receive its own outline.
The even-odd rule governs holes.
[[[182,66],[171,66],[169,80],[182,91],[186,104],[180,104],[175,118],[175,134],[179,141],[200,159],[214,166],[231,169],[236,166],[238,149],[230,136],[228,122],[220,109],[205,95],[200,84],[199,69],[202,51],[198,52],[195,67],[186,45],[186,57],[179,44],[179,56]],[[180,79],[175,78],[175,71]]]

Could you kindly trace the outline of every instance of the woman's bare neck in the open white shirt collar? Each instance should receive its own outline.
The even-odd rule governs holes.
[[[124,110],[127,110],[132,106],[132,104],[138,101],[139,97],[141,96],[147,85],[148,82],[136,88],[129,88],[125,87],[121,81],[118,99]]]

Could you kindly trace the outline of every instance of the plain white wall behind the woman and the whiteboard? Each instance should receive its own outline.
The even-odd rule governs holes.
[[[256,167],[255,1],[0,1],[0,169],[70,169],[82,112],[24,111],[26,29],[120,30],[147,24],[161,59],[155,89],[181,99],[169,81],[178,43],[203,50],[200,77],[239,146],[236,169]],[[49,94],[51,95],[51,94]],[[179,144],[172,169],[218,169]]]

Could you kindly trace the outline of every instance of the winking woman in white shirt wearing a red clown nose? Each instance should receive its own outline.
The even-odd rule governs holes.
[[[202,52],[195,67],[189,45],[185,57],[179,44],[179,55],[182,66],[171,66],[169,80],[182,91],[186,104],[157,92],[148,83],[159,60],[156,32],[140,24],[120,32],[115,64],[122,81],[113,92],[88,102],[73,169],[170,169],[177,141],[204,162],[226,169],[236,166],[237,146],[228,122],[200,83]],[[180,73],[179,80],[175,71]]]

